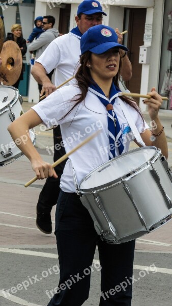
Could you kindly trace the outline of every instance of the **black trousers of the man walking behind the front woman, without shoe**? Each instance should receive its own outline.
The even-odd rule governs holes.
[[[53,129],[53,141],[54,145],[55,144],[60,145],[56,146],[58,150],[54,148],[53,160],[55,162],[66,153],[65,148],[61,145],[62,136],[61,136],[60,126],[55,127],[55,129]],[[44,211],[45,213],[50,213],[52,210],[52,206],[56,205],[61,190],[60,179],[65,164],[66,161],[62,162],[61,164],[59,164],[54,168],[55,172],[58,174],[58,179],[54,179],[54,177],[48,177],[40,192],[37,205],[39,209]]]

